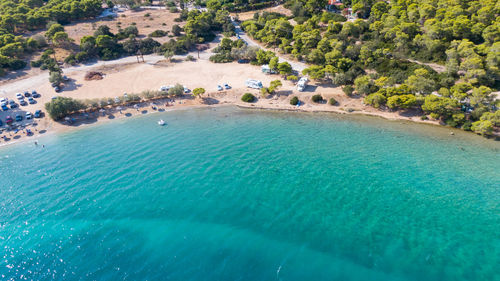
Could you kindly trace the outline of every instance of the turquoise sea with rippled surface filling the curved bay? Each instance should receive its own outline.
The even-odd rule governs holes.
[[[500,280],[500,144],[449,132],[217,107],[3,147],[0,280]]]

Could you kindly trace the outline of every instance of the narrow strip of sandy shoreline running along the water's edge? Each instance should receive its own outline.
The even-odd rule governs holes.
[[[156,100],[156,102],[164,102],[167,99],[159,99]],[[121,110],[118,110],[118,106],[113,106],[110,108],[106,109],[106,114],[102,115],[98,111],[94,111],[91,113],[88,113],[91,116],[91,119],[81,119],[80,117],[83,115],[83,113],[80,114],[73,114],[73,117],[79,118],[74,124],[63,124],[64,122],[56,122],[56,121],[51,121],[49,122],[49,126],[47,128],[43,128],[42,130],[38,130],[33,132],[34,134],[31,136],[21,136],[18,138],[13,138],[10,141],[2,142],[0,143],[0,148],[4,148],[10,145],[14,144],[22,144],[22,143],[27,143],[29,141],[33,142],[38,142],[39,137],[43,136],[51,136],[55,134],[60,134],[60,133],[65,133],[65,132],[71,132],[71,131],[76,131],[79,129],[87,128],[93,125],[97,124],[106,124],[108,122],[114,121],[114,120],[121,120],[121,119],[126,119],[126,118],[134,118],[138,116],[145,116],[149,114],[154,114],[154,113],[165,113],[165,112],[170,112],[170,111],[178,111],[178,110],[191,110],[191,109],[198,109],[198,108],[217,108],[217,107],[236,107],[239,109],[244,109],[244,110],[262,110],[262,111],[275,111],[275,112],[295,112],[295,113],[326,113],[326,114],[339,114],[339,115],[357,115],[357,116],[365,116],[368,118],[373,118],[373,117],[378,117],[386,121],[405,121],[408,124],[423,124],[423,125],[432,125],[433,128],[437,129],[439,128],[440,130],[445,130],[448,129],[448,134],[450,136],[457,134],[461,134],[463,136],[469,136],[469,137],[480,137],[481,139],[485,140],[493,140],[494,142],[498,141],[498,138],[484,138],[481,137],[477,134],[474,134],[472,132],[467,132],[460,130],[458,128],[451,128],[451,127],[446,127],[441,124],[438,124],[436,122],[429,122],[429,121],[424,121],[424,120],[412,120],[411,118],[408,117],[402,117],[402,118],[397,118],[397,117],[390,117],[387,116],[386,114],[377,114],[377,112],[368,112],[368,111],[363,111],[363,110],[354,110],[351,112],[339,109],[339,108],[331,108],[329,110],[325,109],[319,109],[319,108],[296,108],[295,106],[289,106],[289,107],[272,107],[272,106],[263,106],[263,105],[256,105],[254,103],[252,104],[244,104],[241,102],[234,102],[234,103],[229,103],[227,101],[222,102],[222,103],[217,103],[217,104],[205,104],[199,102],[199,100],[195,100],[195,102],[191,103],[186,103],[186,101],[193,101],[193,100],[186,100],[186,99],[180,99],[180,103],[176,103],[175,105],[171,106],[162,106],[162,105],[156,105],[158,108],[157,109],[151,109],[149,106],[151,104],[150,101],[144,101],[139,104],[142,104],[141,107],[139,108],[134,108],[133,105],[121,105],[122,107]],[[147,104],[147,105],[145,105]],[[384,113],[384,112],[381,112]],[[97,115],[97,116],[96,116]],[[111,117],[112,116],[112,117]],[[90,116],[89,116],[90,117]],[[50,130],[47,130],[49,129]],[[41,131],[44,131],[43,133],[40,133]],[[444,132],[444,131],[443,131]]]

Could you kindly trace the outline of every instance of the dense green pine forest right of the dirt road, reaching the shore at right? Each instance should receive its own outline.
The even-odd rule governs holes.
[[[285,6],[292,16],[256,13],[242,27],[268,47],[312,64],[305,75],[344,85],[346,94],[364,96],[367,104],[421,109],[485,135],[500,126],[492,95],[500,87],[500,2],[353,0],[336,6],[338,13],[325,5],[291,0]],[[357,19],[347,21],[347,7]]]

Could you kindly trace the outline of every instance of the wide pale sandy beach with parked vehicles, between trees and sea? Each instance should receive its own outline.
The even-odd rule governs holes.
[[[192,54],[196,55],[196,54]],[[71,80],[66,83],[60,93],[54,92],[48,82],[47,73],[41,73],[17,79],[11,82],[3,83],[2,89],[4,96],[9,99],[15,99],[18,92],[36,90],[41,94],[37,103],[23,106],[15,110],[0,112],[0,117],[5,119],[7,115],[15,116],[17,113],[27,111],[34,112],[37,109],[44,110],[44,105],[49,102],[53,96],[64,96],[75,99],[94,99],[94,98],[114,98],[121,97],[125,93],[140,93],[144,90],[157,90],[162,85],[182,84],[189,89],[202,87],[206,93],[202,98],[194,98],[191,94],[186,94],[182,98],[177,98],[175,102],[165,106],[165,100],[158,100],[157,110],[172,110],[176,108],[185,108],[190,106],[216,106],[216,105],[237,105],[246,108],[276,109],[276,110],[294,110],[307,112],[335,112],[343,114],[368,114],[380,116],[387,119],[403,119],[415,122],[433,123],[436,121],[422,121],[418,116],[405,114],[404,112],[387,112],[365,106],[361,98],[347,97],[340,87],[323,86],[310,83],[306,91],[299,92],[291,81],[283,80],[279,75],[266,75],[261,72],[259,66],[249,64],[227,63],[214,64],[208,61],[210,52],[206,51],[200,55],[200,59],[189,62],[184,61],[183,57],[177,57],[173,62],[168,62],[159,56],[148,56],[145,63],[134,62],[134,57],[123,58],[118,61],[98,62],[94,65],[83,65],[79,67],[69,67],[64,70]],[[87,71],[101,71],[105,74],[104,79],[95,81],[85,81],[84,76]],[[262,81],[264,86],[268,86],[272,80],[280,79],[283,86],[279,88],[276,95],[262,97],[260,92],[255,89],[249,89],[245,86],[248,78]],[[230,90],[217,91],[217,85],[229,84]],[[253,103],[241,101],[244,93],[252,93],[257,97]],[[334,98],[336,105],[325,103],[314,103],[311,96],[321,94],[325,100]],[[290,105],[290,98],[297,96],[301,101],[301,106]],[[23,131],[18,133],[3,132],[0,135],[6,136],[1,140],[1,144],[16,142],[25,139],[34,139],[40,133],[51,133],[68,130],[75,127],[81,127],[85,124],[101,122],[102,120],[112,120],[125,116],[136,114],[145,114],[152,112],[150,101],[144,101],[138,104],[139,109],[130,106],[122,106],[123,110],[116,108],[107,108],[105,116],[94,112],[87,115],[76,114],[73,116],[77,122],[66,124],[65,122],[54,122],[47,116],[41,119],[24,120],[22,122],[34,133],[33,136],[25,137]]]

